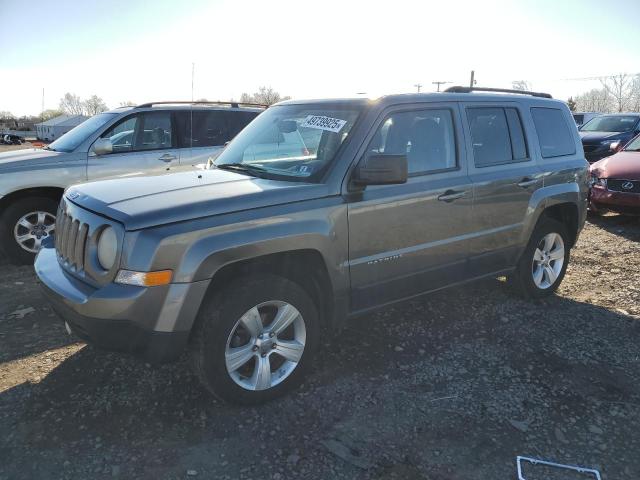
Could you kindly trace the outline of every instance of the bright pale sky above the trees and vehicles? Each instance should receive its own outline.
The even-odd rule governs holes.
[[[0,0],[0,110],[55,108],[67,91],[122,101],[239,98],[270,85],[296,98],[369,96],[431,82],[558,98],[567,80],[640,72],[640,1]]]

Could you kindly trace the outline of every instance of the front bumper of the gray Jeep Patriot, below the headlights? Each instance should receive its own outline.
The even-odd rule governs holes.
[[[94,288],[66,272],[53,248],[35,261],[42,289],[71,331],[88,343],[132,352],[152,362],[176,359],[208,282],[137,287],[110,283]]]

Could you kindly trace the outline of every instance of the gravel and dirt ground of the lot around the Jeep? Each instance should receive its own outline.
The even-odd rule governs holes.
[[[591,222],[556,297],[485,281],[358,318],[259,408],[75,343],[1,267],[0,479],[515,479],[528,455],[637,480],[640,222]]]

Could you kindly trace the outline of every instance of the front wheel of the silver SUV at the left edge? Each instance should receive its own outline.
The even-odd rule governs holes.
[[[0,251],[16,265],[32,264],[42,242],[55,231],[58,202],[48,197],[16,200],[0,215]]]

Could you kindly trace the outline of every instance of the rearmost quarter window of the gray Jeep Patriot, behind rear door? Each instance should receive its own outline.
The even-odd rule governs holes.
[[[533,123],[538,133],[543,158],[561,157],[576,153],[573,135],[567,126],[564,113],[558,108],[534,107]]]

